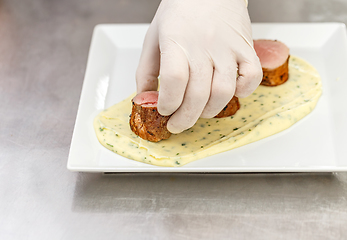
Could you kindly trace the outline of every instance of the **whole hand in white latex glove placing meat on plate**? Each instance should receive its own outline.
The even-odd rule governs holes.
[[[244,0],[162,0],[145,37],[137,92],[157,90],[158,111],[179,133],[217,115],[262,80]]]

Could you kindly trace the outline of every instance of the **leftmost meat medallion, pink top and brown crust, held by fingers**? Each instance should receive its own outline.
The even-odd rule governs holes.
[[[157,110],[157,91],[140,93],[133,98],[132,102],[129,123],[136,135],[151,142],[159,142],[171,136],[166,127],[170,116],[162,116]]]

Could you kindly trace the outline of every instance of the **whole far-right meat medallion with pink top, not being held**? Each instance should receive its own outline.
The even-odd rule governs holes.
[[[288,80],[289,48],[277,40],[254,40],[259,57],[263,80],[261,85],[278,86]]]

